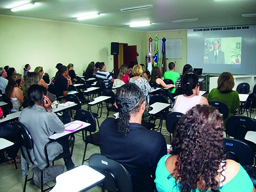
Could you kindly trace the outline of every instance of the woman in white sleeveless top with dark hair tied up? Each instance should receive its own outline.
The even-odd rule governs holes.
[[[186,73],[182,79],[182,88],[185,94],[178,95],[174,102],[174,112],[185,114],[197,104],[208,104],[205,97],[199,95],[198,76],[194,72]]]

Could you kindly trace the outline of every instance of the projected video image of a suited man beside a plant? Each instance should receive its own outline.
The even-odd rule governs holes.
[[[241,64],[242,37],[204,39],[204,63]]]

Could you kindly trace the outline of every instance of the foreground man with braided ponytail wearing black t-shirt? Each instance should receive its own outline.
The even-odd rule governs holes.
[[[167,154],[161,133],[141,125],[145,101],[134,83],[117,90],[115,106],[119,118],[105,119],[99,129],[101,154],[121,163],[131,174],[134,191],[155,191],[155,170],[158,161]]]

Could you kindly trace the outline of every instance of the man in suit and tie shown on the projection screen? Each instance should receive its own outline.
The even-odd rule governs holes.
[[[220,42],[214,41],[214,50],[208,54],[208,63],[211,64],[225,64],[224,52],[219,50]]]

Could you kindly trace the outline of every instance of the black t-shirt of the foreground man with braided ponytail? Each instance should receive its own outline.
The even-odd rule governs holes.
[[[127,169],[134,191],[153,192],[157,163],[167,154],[165,138],[138,123],[130,123],[130,129],[125,138],[118,132],[117,119],[106,118],[99,129],[100,152]]]

